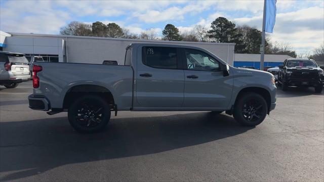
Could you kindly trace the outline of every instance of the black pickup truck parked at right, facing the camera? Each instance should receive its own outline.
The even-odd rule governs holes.
[[[321,93],[324,84],[323,70],[311,59],[286,59],[279,65],[278,85],[282,90],[288,86],[314,87]]]

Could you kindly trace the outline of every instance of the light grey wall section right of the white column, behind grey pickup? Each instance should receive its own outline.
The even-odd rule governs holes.
[[[217,44],[203,42],[174,42],[174,41],[142,41],[142,40],[113,40],[101,38],[67,38],[67,58],[71,63],[102,64],[104,60],[117,61],[123,65],[126,47],[130,43],[172,43],[204,48],[219,58],[233,65],[234,44]]]

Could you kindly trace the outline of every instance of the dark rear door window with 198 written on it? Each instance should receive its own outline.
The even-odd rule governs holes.
[[[160,69],[177,69],[177,49],[168,47],[143,47],[144,65]]]

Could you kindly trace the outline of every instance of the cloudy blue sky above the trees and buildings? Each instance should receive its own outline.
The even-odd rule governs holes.
[[[324,42],[324,1],[277,0],[271,41],[290,44],[298,54],[312,53]],[[131,33],[154,28],[161,36],[171,23],[181,32],[195,25],[210,29],[225,17],[236,25],[261,30],[263,1],[7,1],[0,0],[0,30],[59,34],[71,21],[115,22]]]

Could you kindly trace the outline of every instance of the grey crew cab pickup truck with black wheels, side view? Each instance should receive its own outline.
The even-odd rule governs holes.
[[[103,129],[111,111],[226,111],[255,126],[276,105],[271,73],[234,68],[204,49],[157,43],[130,44],[125,65],[34,63],[33,87],[31,109],[67,111],[80,132]]]

